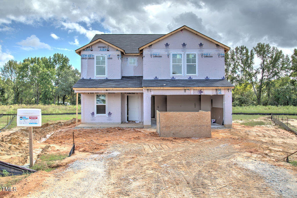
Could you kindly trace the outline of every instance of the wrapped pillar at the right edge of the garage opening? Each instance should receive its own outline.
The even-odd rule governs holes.
[[[224,125],[226,128],[232,128],[232,91],[225,89],[224,95]]]

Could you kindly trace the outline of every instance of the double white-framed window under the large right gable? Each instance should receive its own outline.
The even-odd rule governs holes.
[[[195,53],[173,53],[171,55],[171,75],[196,75]],[[185,63],[184,60],[185,59]],[[185,73],[185,74],[184,74]]]

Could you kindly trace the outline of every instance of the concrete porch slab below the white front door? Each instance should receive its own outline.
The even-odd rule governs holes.
[[[143,128],[143,123],[82,123],[75,129],[79,128],[108,128],[108,127],[121,127],[121,128]]]

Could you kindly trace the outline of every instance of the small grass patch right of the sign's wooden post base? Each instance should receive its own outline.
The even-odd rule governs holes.
[[[59,162],[65,159],[68,154],[43,154],[31,167],[33,170],[44,170],[50,172],[59,167]]]

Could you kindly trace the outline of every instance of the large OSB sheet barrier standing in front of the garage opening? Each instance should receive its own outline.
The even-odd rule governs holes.
[[[157,130],[160,137],[211,137],[210,114],[210,111],[160,112]]]

